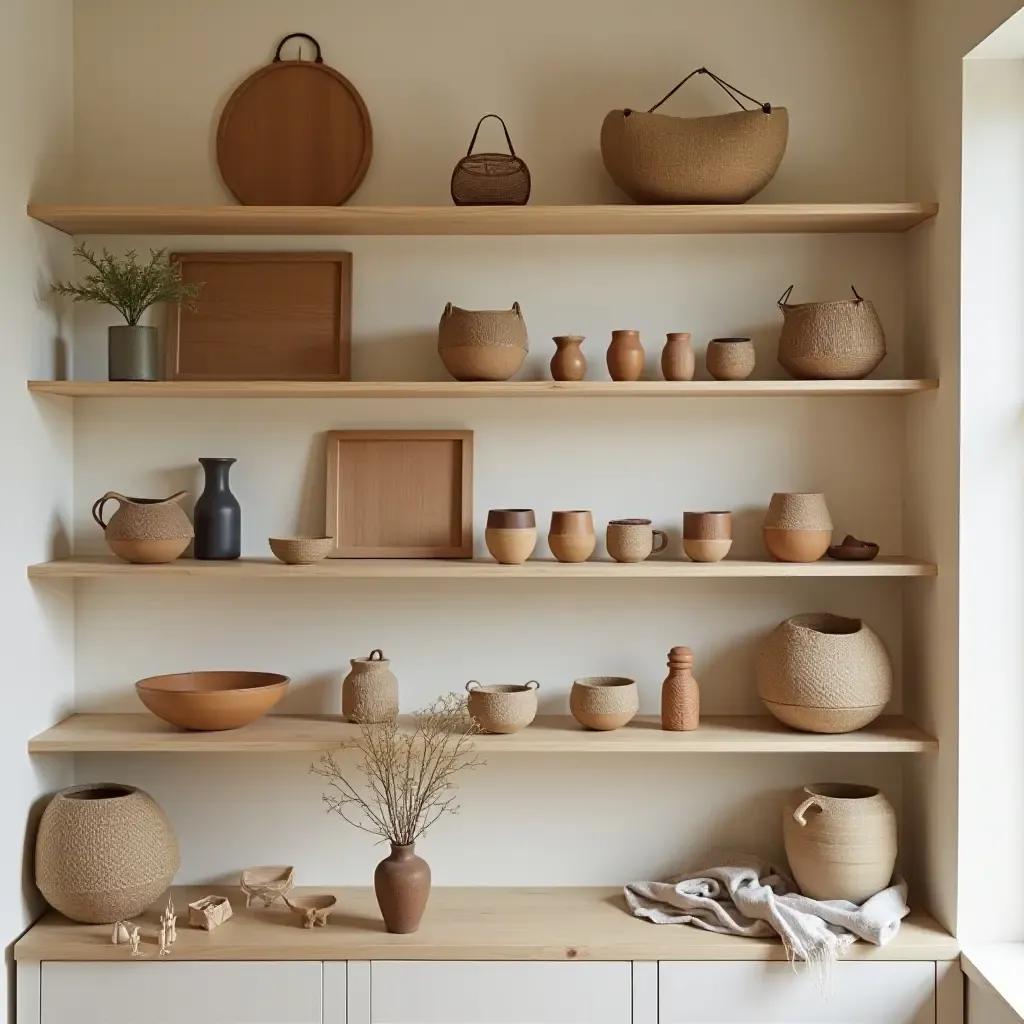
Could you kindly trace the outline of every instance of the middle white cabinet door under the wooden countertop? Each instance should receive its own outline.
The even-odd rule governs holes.
[[[630,1024],[632,964],[375,961],[372,1024]]]

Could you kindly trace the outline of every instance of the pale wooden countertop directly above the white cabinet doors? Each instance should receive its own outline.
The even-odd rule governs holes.
[[[333,892],[338,897],[327,928],[297,928],[291,911],[281,904],[247,908],[238,888],[176,886],[175,906],[216,893],[230,899],[234,915],[213,932],[179,927],[170,961],[785,959],[778,940],[640,921],[627,911],[622,889],[435,888],[423,925],[412,935],[384,931],[371,889],[294,892]],[[151,954],[162,909],[163,903],[134,919]],[[888,945],[856,942],[844,961],[952,961],[958,955],[956,940],[928,914],[915,911]],[[125,946],[111,944],[110,925],[78,925],[55,911],[17,941],[14,958],[130,963]]]

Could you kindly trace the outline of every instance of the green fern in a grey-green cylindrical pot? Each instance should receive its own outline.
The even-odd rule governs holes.
[[[57,295],[74,302],[98,302],[113,306],[125,323],[108,329],[106,376],[112,381],[157,381],[161,379],[160,338],[155,327],[142,327],[142,314],[157,302],[174,302],[195,308],[200,285],[186,285],[181,267],[166,249],[151,249],[150,262],[140,263],[134,249],[101,256],[84,245],[75,255],[92,268],[80,284],[58,282]]]

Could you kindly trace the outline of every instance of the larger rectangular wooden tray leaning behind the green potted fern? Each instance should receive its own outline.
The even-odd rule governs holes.
[[[168,307],[167,379],[347,381],[351,253],[173,253],[202,283],[196,310]]]

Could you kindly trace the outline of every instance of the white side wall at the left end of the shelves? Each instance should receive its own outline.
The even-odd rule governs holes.
[[[70,550],[72,419],[60,402],[37,403],[31,377],[63,369],[70,324],[46,295],[71,270],[71,244],[30,221],[30,196],[70,187],[71,0],[0,5],[0,444],[4,528],[0,532],[0,641],[5,707],[0,716],[0,943],[7,946],[38,908],[27,836],[40,797],[71,779],[70,761],[33,762],[26,741],[73,701],[73,608],[68,586],[29,585],[27,563]],[[9,970],[0,976],[7,989]],[[2,1004],[0,1004],[2,1005]]]

